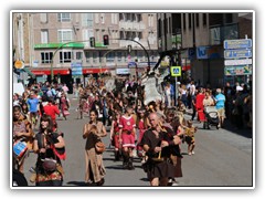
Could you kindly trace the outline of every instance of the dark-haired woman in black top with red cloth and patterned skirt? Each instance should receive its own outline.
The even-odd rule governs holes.
[[[62,134],[53,130],[51,116],[44,114],[41,117],[40,132],[35,135],[33,146],[38,154],[35,186],[62,186],[64,171],[61,159],[65,159],[65,143]]]

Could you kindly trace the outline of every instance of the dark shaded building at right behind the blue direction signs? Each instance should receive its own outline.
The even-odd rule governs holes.
[[[246,35],[252,39],[252,12],[158,13],[158,50],[173,53],[184,74],[201,85],[245,82],[251,73],[225,75],[223,42],[245,39]],[[161,65],[168,67],[170,63]]]

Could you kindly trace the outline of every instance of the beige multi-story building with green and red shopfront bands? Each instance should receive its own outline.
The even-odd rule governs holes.
[[[148,60],[153,64],[158,59],[155,13],[34,12],[30,17],[26,57],[36,81],[54,76],[61,82],[85,83],[88,75],[106,71],[141,73]],[[106,34],[109,45],[103,42]],[[91,38],[95,38],[94,46]]]

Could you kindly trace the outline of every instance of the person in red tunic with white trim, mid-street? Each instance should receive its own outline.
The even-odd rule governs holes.
[[[119,142],[123,144],[124,169],[132,170],[132,149],[135,148],[136,123],[131,115],[132,108],[126,107],[126,113],[119,119]]]

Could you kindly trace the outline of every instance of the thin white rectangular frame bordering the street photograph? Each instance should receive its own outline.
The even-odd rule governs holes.
[[[256,156],[255,156],[255,140],[256,140],[256,136],[255,136],[255,133],[256,133],[256,123],[255,123],[255,102],[253,104],[253,146],[252,146],[252,155],[253,155],[253,187],[13,187],[12,186],[12,134],[11,134],[11,129],[12,129],[12,91],[13,91],[13,70],[12,70],[12,48],[13,48],[13,44],[12,44],[12,40],[13,40],[13,28],[12,28],[12,14],[13,13],[28,13],[28,12],[108,12],[108,13],[115,13],[115,12],[140,12],[140,13],[160,13],[160,12],[176,12],[176,13],[183,13],[183,12],[189,12],[189,13],[201,13],[201,12],[206,12],[206,13],[213,13],[213,12],[219,12],[219,13],[226,13],[226,12],[235,12],[235,13],[245,13],[245,12],[252,12],[253,13],[253,100],[255,101],[255,96],[256,96],[256,93],[255,93],[255,76],[256,76],[256,65],[255,65],[255,50],[256,50],[256,45],[255,45],[255,36],[256,36],[256,33],[255,33],[255,11],[254,10],[11,10],[10,11],[10,34],[12,36],[10,36],[10,189],[55,189],[55,190],[60,190],[60,189],[110,189],[110,190],[114,190],[114,189],[167,189],[167,190],[177,190],[177,189],[213,189],[213,190],[216,190],[216,189],[239,189],[239,190],[242,190],[242,189],[255,189],[255,181],[256,181],[256,172],[255,172],[255,168],[256,168]]]

